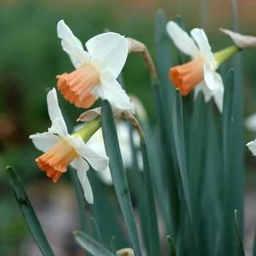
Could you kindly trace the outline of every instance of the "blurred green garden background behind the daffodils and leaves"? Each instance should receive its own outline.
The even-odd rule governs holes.
[[[256,36],[256,2],[238,0],[237,4],[241,33]],[[25,187],[41,188],[42,183],[52,183],[34,162],[40,152],[34,148],[29,135],[45,132],[50,127],[46,94],[56,87],[56,75],[74,69],[57,37],[58,21],[64,19],[83,45],[105,29],[138,39],[148,47],[154,60],[154,17],[159,8],[165,11],[167,20],[182,15],[187,31],[194,27],[206,29],[214,52],[231,44],[219,27],[232,29],[232,12],[230,0],[1,0],[0,8],[0,255],[22,255],[19,247],[23,239],[29,237],[28,228],[4,170],[12,165]],[[244,116],[249,116],[256,112],[256,49],[246,49],[240,54]],[[128,56],[123,75],[127,92],[140,97],[154,125],[150,78],[139,54]],[[75,125],[83,110],[69,105],[60,94],[59,102]],[[246,132],[244,145],[255,137],[255,133]],[[245,151],[247,187],[255,187],[256,158],[247,148]],[[59,181],[61,185],[56,187],[68,181],[69,176],[63,176]],[[45,193],[50,185],[37,192]]]

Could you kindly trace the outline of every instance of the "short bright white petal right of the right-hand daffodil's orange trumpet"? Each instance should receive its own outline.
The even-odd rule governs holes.
[[[211,91],[224,87],[222,77],[219,73],[214,72],[206,62],[203,62],[203,77],[206,81],[206,86],[208,86],[208,89]]]

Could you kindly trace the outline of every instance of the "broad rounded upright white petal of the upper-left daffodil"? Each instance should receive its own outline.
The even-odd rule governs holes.
[[[86,42],[86,48],[99,70],[107,69],[115,78],[118,77],[128,54],[124,36],[113,32],[99,34]]]

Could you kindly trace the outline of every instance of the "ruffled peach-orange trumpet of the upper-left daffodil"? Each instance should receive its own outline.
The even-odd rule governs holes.
[[[57,75],[57,86],[70,103],[78,108],[89,108],[95,102],[91,90],[99,83],[99,72],[92,64],[84,64],[70,74]]]

